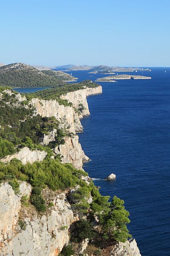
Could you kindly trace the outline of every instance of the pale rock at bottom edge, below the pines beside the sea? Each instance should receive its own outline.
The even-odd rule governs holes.
[[[135,239],[130,239],[125,243],[116,243],[111,251],[111,256],[141,256]]]

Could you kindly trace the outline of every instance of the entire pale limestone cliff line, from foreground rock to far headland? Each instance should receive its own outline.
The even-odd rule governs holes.
[[[82,162],[88,160],[75,133],[82,131],[80,123],[82,116],[90,114],[86,97],[101,92],[102,87],[99,86],[62,95],[62,99],[72,102],[73,107],[59,105],[56,100],[31,100],[31,104],[35,107],[35,115],[55,116],[61,127],[68,133],[72,133],[64,138],[65,144],[58,145],[54,149],[56,154],[61,154],[62,163],[72,163],[77,169],[82,169]],[[84,109],[78,115],[75,108],[79,108],[79,104],[82,104]],[[44,135],[42,145],[48,145],[54,141],[56,131],[54,129]],[[45,156],[44,150],[31,151],[24,147],[2,161],[7,162],[17,158],[24,164],[34,163],[43,160]],[[40,177],[43,178],[43,176]],[[88,179],[84,177],[85,180],[86,178]],[[78,188],[79,185],[75,189]],[[20,182],[19,191],[15,193],[8,182],[0,184],[0,256],[57,256],[69,242],[71,224],[79,218],[76,208],[68,201],[68,190],[52,191],[48,186],[44,186],[42,196],[45,198],[45,204],[48,205],[45,212],[37,212],[30,202],[27,207],[22,204],[22,197],[31,195],[30,184]],[[92,196],[90,199],[88,203],[92,202]],[[81,216],[87,218],[84,213]],[[80,244],[79,254],[83,254],[87,246],[88,239],[85,239],[82,245]],[[107,255],[111,256],[141,256],[135,240],[116,243],[106,250]],[[102,255],[105,255],[105,251]],[[88,256],[92,255],[88,254]]]

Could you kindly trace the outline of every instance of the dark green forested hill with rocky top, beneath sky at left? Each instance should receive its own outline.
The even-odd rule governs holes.
[[[0,84],[11,87],[55,87],[66,80],[74,79],[61,71],[40,71],[23,63],[0,67]]]

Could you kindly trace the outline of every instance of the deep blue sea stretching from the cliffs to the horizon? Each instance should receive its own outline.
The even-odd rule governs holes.
[[[135,73],[151,76],[149,80],[99,83],[102,94],[88,96],[91,115],[81,120],[84,129],[79,142],[91,159],[83,168],[100,186],[101,194],[125,201],[131,221],[127,227],[142,256],[168,256],[170,67],[149,68],[151,72]],[[66,72],[77,81],[108,76]],[[111,173],[116,180],[104,180]]]

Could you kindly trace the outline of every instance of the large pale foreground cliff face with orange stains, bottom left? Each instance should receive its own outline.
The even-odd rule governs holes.
[[[65,193],[53,195],[54,206],[41,216],[21,206],[21,196],[29,195],[31,186],[23,182],[20,191],[18,196],[8,183],[0,186],[0,256],[57,256],[68,243],[68,228],[74,222]],[[24,229],[18,222],[21,214]]]

